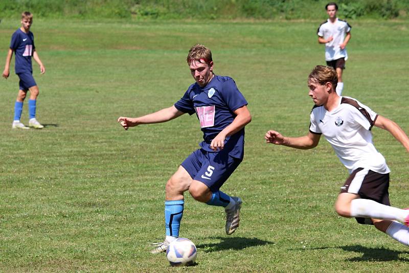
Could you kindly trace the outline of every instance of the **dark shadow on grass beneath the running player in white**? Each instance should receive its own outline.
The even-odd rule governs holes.
[[[405,251],[393,251],[388,248],[370,248],[361,245],[344,245],[338,247],[316,247],[310,249],[328,249],[328,248],[340,248],[343,251],[362,253],[361,257],[354,257],[346,259],[349,262],[365,262],[365,261],[374,261],[374,262],[388,262],[388,261],[401,261],[409,262],[407,258],[400,258],[400,254],[409,254]],[[305,248],[304,248],[305,250]]]

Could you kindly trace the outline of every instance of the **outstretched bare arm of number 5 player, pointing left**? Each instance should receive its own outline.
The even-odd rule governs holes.
[[[128,130],[129,127],[138,126],[140,124],[167,122],[183,114],[184,112],[179,111],[178,109],[176,109],[174,105],[172,105],[171,107],[164,108],[162,110],[150,113],[149,115],[142,116],[139,118],[119,117],[118,122],[121,123],[121,126],[124,127],[125,130]]]

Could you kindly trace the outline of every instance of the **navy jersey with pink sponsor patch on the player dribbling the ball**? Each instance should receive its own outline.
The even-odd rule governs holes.
[[[193,115],[196,113],[203,132],[200,147],[214,152],[210,148],[212,140],[236,117],[236,109],[247,105],[247,101],[240,93],[234,80],[225,76],[214,76],[205,86],[197,83],[189,86],[183,98],[175,103],[179,111]],[[242,158],[244,153],[244,128],[226,138],[224,149],[231,151],[231,155]]]

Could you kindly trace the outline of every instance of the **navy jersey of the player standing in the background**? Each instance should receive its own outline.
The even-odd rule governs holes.
[[[31,56],[34,52],[34,35],[31,31],[25,33],[21,29],[16,30],[11,36],[10,49],[15,54],[14,69],[16,74],[22,72],[33,73]]]

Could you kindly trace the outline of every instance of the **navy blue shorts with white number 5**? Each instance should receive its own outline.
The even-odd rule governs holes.
[[[204,183],[212,192],[217,192],[240,163],[241,159],[229,155],[228,151],[208,152],[197,149],[180,166],[194,180]]]

